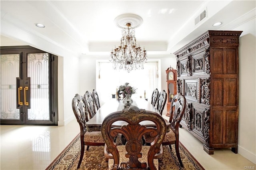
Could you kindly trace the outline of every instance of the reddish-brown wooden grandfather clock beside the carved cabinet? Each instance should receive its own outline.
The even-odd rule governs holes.
[[[172,67],[168,67],[166,70],[166,82],[167,82],[167,114],[170,116],[171,102],[174,95],[177,94],[177,70]]]

